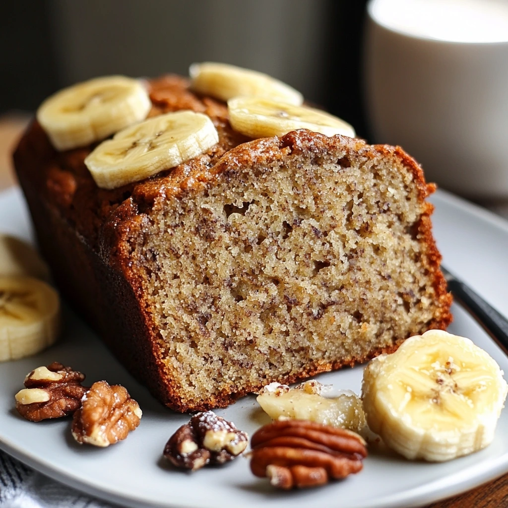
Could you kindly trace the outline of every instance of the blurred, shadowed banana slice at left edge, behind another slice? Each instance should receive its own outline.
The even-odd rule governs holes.
[[[0,276],[30,275],[48,279],[48,267],[36,250],[19,238],[0,234]]]

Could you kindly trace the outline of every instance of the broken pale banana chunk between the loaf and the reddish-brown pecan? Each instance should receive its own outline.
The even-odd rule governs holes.
[[[274,420],[309,420],[360,432],[366,425],[360,397],[350,390],[337,397],[324,397],[327,389],[314,379],[295,388],[271,383],[261,390],[257,400]]]

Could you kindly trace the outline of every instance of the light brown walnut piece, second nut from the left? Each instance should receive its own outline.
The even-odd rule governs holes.
[[[141,420],[139,404],[120,385],[93,383],[74,413],[72,435],[79,443],[107,447],[125,439]]]

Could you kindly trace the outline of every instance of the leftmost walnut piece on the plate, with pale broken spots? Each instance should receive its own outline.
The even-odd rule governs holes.
[[[84,378],[81,372],[58,362],[37,367],[25,377],[25,388],[16,394],[16,409],[32,422],[70,415],[79,409],[88,390],[81,386]]]

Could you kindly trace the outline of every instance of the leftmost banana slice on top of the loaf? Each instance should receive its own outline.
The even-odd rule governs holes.
[[[145,119],[150,108],[141,81],[106,76],[55,93],[41,104],[37,120],[57,150],[69,150]]]

